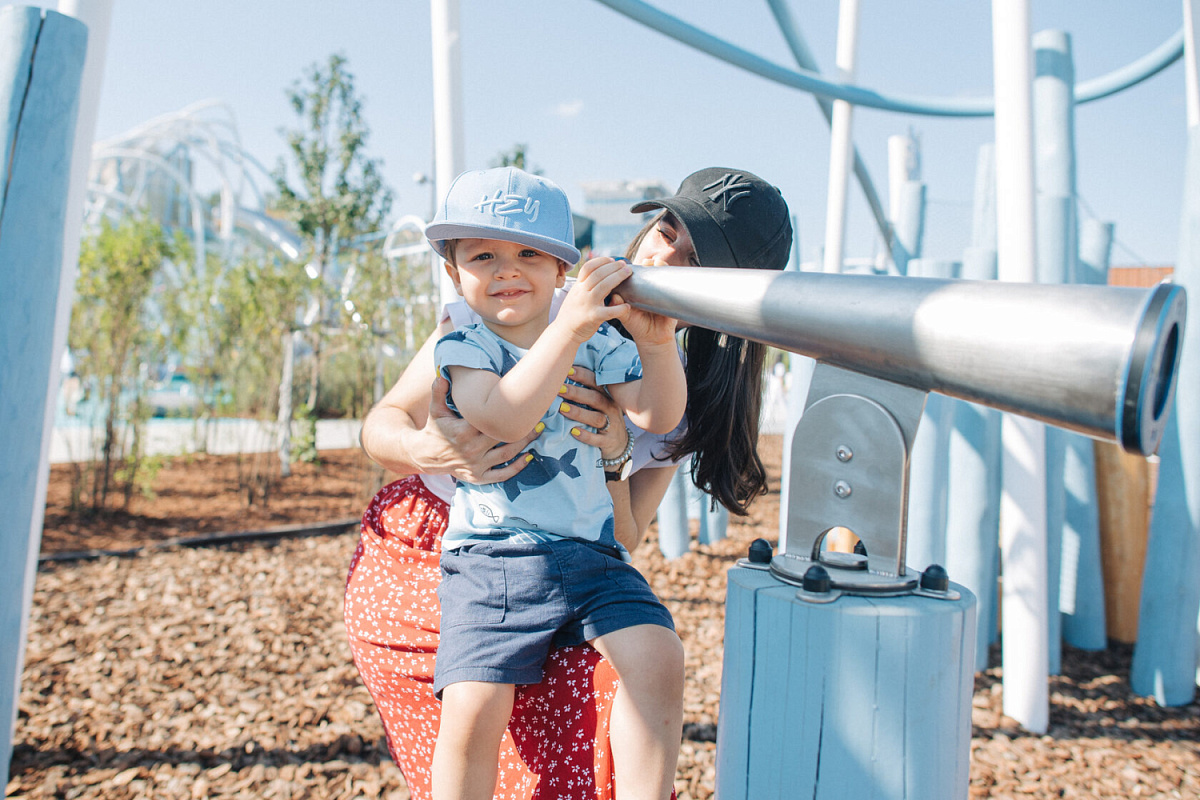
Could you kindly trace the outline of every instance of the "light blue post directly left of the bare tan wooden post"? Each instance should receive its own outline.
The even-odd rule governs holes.
[[[1112,224],[1086,219],[1079,225],[1079,258],[1075,282],[1104,285],[1109,282]],[[1108,646],[1104,614],[1104,571],[1100,561],[1100,517],[1096,492],[1096,449],[1091,439],[1067,435],[1067,517],[1063,528],[1062,636],[1081,650]],[[1074,576],[1074,591],[1066,581]],[[1069,603],[1069,604],[1068,604]]]

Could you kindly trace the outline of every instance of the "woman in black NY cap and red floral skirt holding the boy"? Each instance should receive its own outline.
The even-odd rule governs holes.
[[[774,186],[750,173],[700,170],[684,179],[673,197],[640,203],[632,211],[652,209],[662,212],[630,243],[628,258],[635,264],[780,270],[787,263],[792,241],[787,204]],[[346,627],[354,663],[414,800],[430,796],[428,768],[438,729],[432,679],[446,500],[455,479],[492,483],[518,473],[524,459],[515,457],[536,438],[530,433],[497,446],[446,408],[433,344],[466,321],[462,303],[448,306],[440,331],[362,425],[367,456],[409,477],[384,487],[362,517],[347,578]],[[689,456],[695,483],[733,513],[744,515],[750,501],[766,492],[766,470],[756,450],[766,347],[691,327],[684,351],[684,423],[666,437],[636,437],[631,453],[630,434],[606,395],[570,386],[563,396],[563,414],[580,423],[581,440],[599,446],[606,461],[629,458],[628,480],[608,486],[613,504],[632,512],[638,541],[677,464]],[[589,375],[582,378],[586,383]],[[630,549],[636,545],[626,543]],[[611,799],[607,724],[613,670],[590,648],[562,648],[551,656],[545,675],[542,682],[517,693],[496,796]]]

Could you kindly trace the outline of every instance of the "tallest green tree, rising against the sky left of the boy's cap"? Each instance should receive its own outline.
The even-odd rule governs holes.
[[[328,321],[330,288],[326,276],[346,248],[364,234],[383,227],[391,209],[391,191],[383,184],[380,162],[366,154],[370,133],[362,101],[343,55],[313,64],[288,91],[298,127],[283,131],[296,184],[280,161],[274,179],[276,207],[305,237],[316,272],[314,300],[319,314],[312,329],[313,361],[308,408],[320,391],[322,326]]]

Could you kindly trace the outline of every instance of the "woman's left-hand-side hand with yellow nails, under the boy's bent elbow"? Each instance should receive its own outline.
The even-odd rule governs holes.
[[[520,441],[497,446],[499,443],[496,439],[480,433],[450,410],[446,405],[449,390],[445,378],[433,381],[430,415],[421,428],[427,447],[424,461],[430,464],[427,471],[449,473],[467,483],[499,483],[524,469],[528,463],[524,458],[517,458],[506,467],[500,464],[515,458],[541,432],[530,431]]]

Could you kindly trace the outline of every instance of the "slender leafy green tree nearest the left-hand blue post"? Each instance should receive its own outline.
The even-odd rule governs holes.
[[[164,263],[178,252],[162,228],[144,216],[104,221],[79,253],[70,343],[79,354],[80,379],[95,389],[103,411],[100,468],[92,473],[92,510],[107,506],[116,471],[128,505],[142,467],[146,417],[142,369],[154,363],[164,338],[151,294]],[[122,433],[132,439],[122,443]]]

